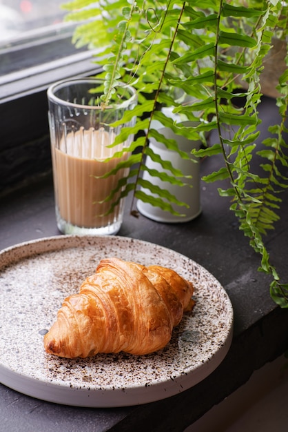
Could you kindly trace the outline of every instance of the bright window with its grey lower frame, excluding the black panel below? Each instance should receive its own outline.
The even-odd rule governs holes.
[[[92,71],[91,52],[71,42],[63,0],[0,0],[0,101]]]

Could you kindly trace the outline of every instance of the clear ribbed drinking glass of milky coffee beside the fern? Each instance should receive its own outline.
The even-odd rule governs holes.
[[[110,147],[121,128],[133,126],[135,119],[121,126],[110,126],[136,104],[134,89],[123,86],[112,106],[101,108],[103,81],[70,79],[48,89],[49,124],[56,204],[56,221],[61,233],[76,235],[116,234],[123,222],[124,199],[108,213],[119,197],[103,202],[128,174],[122,168],[107,178],[99,178],[127,159],[113,157],[123,146],[130,146],[133,136]],[[104,162],[104,159],[112,158]]]

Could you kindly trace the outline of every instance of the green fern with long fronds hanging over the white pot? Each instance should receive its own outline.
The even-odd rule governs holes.
[[[81,21],[73,42],[96,50],[95,61],[103,66],[103,109],[119,97],[121,86],[129,84],[138,91],[138,106],[126,112],[127,117],[136,116],[136,125],[123,129],[115,142],[116,145],[125,141],[129,134],[135,136],[130,148],[123,150],[131,153],[125,162],[131,168],[130,175],[118,188],[122,189],[121,197],[133,194],[131,213],[136,214],[135,199],[171,213],[174,213],[172,203],[185,205],[167,190],[156,188],[141,177],[143,170],[148,170],[145,157],[150,156],[169,172],[150,170],[150,175],[171,184],[183,184],[179,179],[182,173],[150,149],[149,139],[161,141],[181,157],[187,155],[178,149],[176,141],[165,139],[154,130],[152,120],[161,121],[178,135],[201,139],[204,146],[194,150],[196,157],[223,156],[223,166],[204,180],[223,181],[224,186],[218,192],[230,197],[230,208],[238,218],[240,230],[260,253],[259,270],[271,275],[271,297],[281,307],[288,307],[288,285],[271,264],[264,243],[267,231],[274,229],[278,220],[280,193],[288,186],[284,175],[288,144],[283,138],[287,132],[287,68],[282,71],[277,87],[280,123],[269,125],[271,137],[263,141],[263,150],[258,150],[255,144],[259,135],[261,72],[272,37],[286,41],[287,47],[287,3],[74,0],[65,8],[70,11],[67,19]],[[287,66],[287,50],[285,63]],[[238,84],[238,77],[245,82],[246,90]],[[244,106],[236,103],[239,98],[245,100]],[[161,106],[172,107],[180,120],[167,117],[159,109]],[[185,126],[183,119],[198,121],[198,126]],[[211,130],[218,132],[218,143],[209,147],[205,133]],[[251,170],[255,155],[263,159],[261,175]],[[150,190],[153,197],[143,188]]]

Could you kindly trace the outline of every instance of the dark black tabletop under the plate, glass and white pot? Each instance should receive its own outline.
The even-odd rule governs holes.
[[[265,99],[260,115],[277,121],[274,103]],[[203,173],[218,166],[217,158],[203,161]],[[216,184],[201,186],[203,213],[185,224],[159,224],[129,215],[129,203],[119,235],[172,248],[212,273],[232,300],[234,340],[222,364],[179,395],[152,404],[119,409],[77,409],[34,400],[0,386],[3,430],[40,431],[184,431],[185,427],[220,402],[251,373],[288,348],[288,311],[269,297],[269,277],[257,271],[259,257],[238,230],[227,199]],[[288,191],[282,195],[282,216],[267,237],[267,248],[285,282],[288,281]],[[52,179],[43,177],[0,200],[0,248],[30,239],[58,235]],[[1,284],[1,282],[0,282]],[[1,285],[0,285],[1,286]],[[0,427],[0,429],[1,429]]]

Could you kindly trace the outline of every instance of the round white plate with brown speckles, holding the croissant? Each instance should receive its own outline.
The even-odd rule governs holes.
[[[63,299],[78,292],[103,257],[173,268],[195,285],[196,306],[172,340],[150,355],[68,360],[48,355],[43,333]],[[179,253],[127,237],[63,235],[0,253],[0,382],[41,400],[112,407],[153,402],[189,389],[222,362],[232,341],[227,293],[205,268]]]

